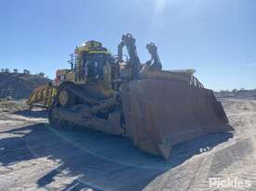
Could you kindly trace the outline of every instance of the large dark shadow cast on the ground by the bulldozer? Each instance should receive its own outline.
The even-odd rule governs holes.
[[[23,113],[24,114],[24,113]],[[62,190],[141,190],[158,175],[180,165],[200,153],[201,148],[213,147],[232,134],[211,134],[178,146],[173,146],[169,161],[145,154],[126,138],[94,132],[79,133],[56,130],[46,123],[12,129],[8,134],[21,134],[0,140],[0,162],[9,165],[29,159],[60,160],[60,166],[37,181],[45,187],[63,171],[77,176]]]

